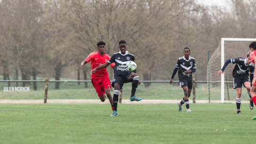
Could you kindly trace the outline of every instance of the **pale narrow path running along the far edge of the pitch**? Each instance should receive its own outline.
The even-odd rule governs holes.
[[[133,101],[130,100],[122,100],[122,103],[129,103],[129,104],[140,104],[140,103],[177,103],[181,100],[141,100],[141,101]],[[220,100],[211,100],[211,103],[221,103]],[[44,100],[0,100],[0,103],[44,103]],[[65,100],[47,100],[47,103],[109,103],[108,99],[105,100],[105,102],[101,102],[98,100],[90,100],[90,99],[65,99]],[[190,100],[190,103],[193,103],[192,100]],[[208,100],[196,100],[196,103],[209,103]],[[236,103],[236,101],[225,101],[225,103]],[[242,101],[242,103],[249,103],[249,100]]]

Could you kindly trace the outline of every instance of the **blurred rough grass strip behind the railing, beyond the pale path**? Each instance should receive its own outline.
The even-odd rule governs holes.
[[[0,79],[3,77],[0,76]],[[45,78],[38,78],[38,80],[45,80]],[[50,78],[50,81],[54,78]],[[61,81],[74,81],[75,79],[61,78]],[[19,84],[21,86],[21,83]],[[3,92],[4,87],[8,86],[6,82],[0,82],[0,100],[37,100],[44,99],[44,82],[37,82],[37,91],[33,90],[33,83],[27,84],[29,86],[29,92]],[[11,83],[11,86],[15,86],[15,83]],[[94,87],[90,82],[87,83],[85,88],[84,83],[74,82],[61,82],[60,89],[55,89],[55,83],[49,83],[49,90],[47,99],[99,99]],[[208,87],[205,83],[196,84],[196,100],[209,100]],[[220,89],[219,89],[220,90]],[[111,88],[111,94],[114,93],[114,89]],[[123,99],[129,99],[131,94],[131,83],[124,84]],[[170,85],[169,83],[151,83],[149,87],[145,86],[145,83],[141,83],[138,86],[136,95],[145,100],[180,100],[183,97],[183,90],[179,87],[178,83]],[[227,94],[226,94],[227,95]],[[230,100],[235,100],[236,90],[229,89]],[[192,100],[193,92],[191,92],[190,100]],[[242,100],[249,99],[246,89],[242,90]],[[211,100],[220,100],[219,97],[211,97]],[[225,98],[228,100],[228,98]]]

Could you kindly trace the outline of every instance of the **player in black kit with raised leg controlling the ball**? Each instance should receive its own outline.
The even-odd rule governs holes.
[[[103,65],[97,68],[94,68],[91,71],[91,74],[94,74],[97,70],[106,68],[110,63],[115,62],[114,78],[113,78],[113,82],[111,83],[112,87],[114,87],[114,90],[115,90],[113,95],[114,111],[113,111],[113,114],[110,116],[118,115],[117,114],[118,95],[119,95],[119,90],[123,87],[124,83],[132,82],[132,92],[131,92],[130,101],[142,100],[141,98],[137,98],[135,95],[138,84],[140,84],[139,76],[138,74],[136,74],[136,70],[131,72],[126,69],[126,63],[128,63],[129,61],[134,61],[134,55],[126,51],[126,42],[124,40],[119,41],[119,49],[120,49],[120,52],[114,53],[112,57],[108,60],[108,62],[104,63]]]

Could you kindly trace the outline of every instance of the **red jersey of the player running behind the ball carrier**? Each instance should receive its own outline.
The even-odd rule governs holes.
[[[85,59],[87,62],[91,61],[92,69],[99,67],[103,63],[106,63],[110,59],[108,54],[100,55],[99,52],[92,52],[89,56]],[[115,66],[115,63],[110,63],[110,66]],[[108,77],[107,68],[99,69],[94,74],[92,74],[92,78],[103,78]]]

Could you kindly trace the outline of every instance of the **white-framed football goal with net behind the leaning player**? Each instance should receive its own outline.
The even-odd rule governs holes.
[[[232,71],[235,67],[232,63],[225,69],[225,74],[218,75],[224,63],[228,59],[237,57],[246,57],[250,51],[249,45],[256,41],[254,38],[221,38],[221,43],[213,53],[207,66],[207,85],[209,89],[209,102],[236,100],[236,90],[233,89]],[[249,96],[244,87],[242,87],[242,99],[247,100]]]

